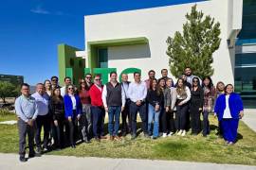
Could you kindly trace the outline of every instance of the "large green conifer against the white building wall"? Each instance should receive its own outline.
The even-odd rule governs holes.
[[[220,24],[214,23],[210,15],[204,17],[202,11],[192,7],[186,14],[187,22],[183,25],[183,34],[176,31],[174,38],[168,37],[169,66],[171,73],[181,76],[186,67],[191,67],[193,75],[212,76],[212,54],[219,48],[221,39]]]

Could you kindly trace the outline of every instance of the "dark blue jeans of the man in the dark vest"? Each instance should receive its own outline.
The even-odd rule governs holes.
[[[108,132],[110,136],[116,136],[119,134],[120,110],[121,110],[120,106],[111,106],[108,108]],[[114,121],[115,121],[115,127],[114,127]]]

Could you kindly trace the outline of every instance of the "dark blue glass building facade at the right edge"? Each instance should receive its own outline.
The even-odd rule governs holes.
[[[244,0],[243,26],[236,41],[235,90],[247,108],[256,107],[256,1]]]

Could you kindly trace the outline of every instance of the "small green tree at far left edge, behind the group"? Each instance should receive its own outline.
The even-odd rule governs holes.
[[[18,93],[18,87],[8,81],[0,81],[0,98],[4,103],[6,103],[6,97],[16,97]]]

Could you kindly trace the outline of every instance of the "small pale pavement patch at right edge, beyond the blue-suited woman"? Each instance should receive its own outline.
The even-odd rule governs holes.
[[[247,124],[248,127],[253,129],[256,132],[256,110],[255,109],[246,109],[245,116],[242,121]]]

